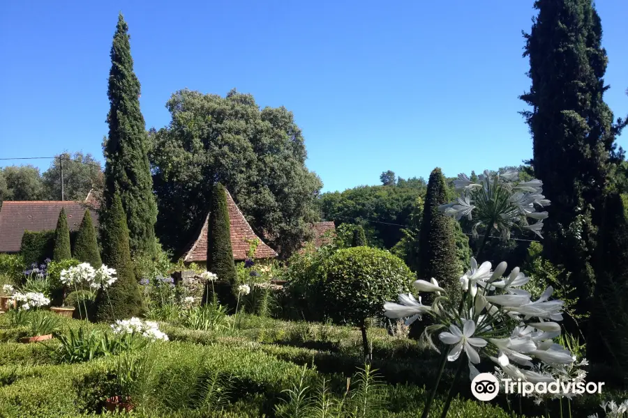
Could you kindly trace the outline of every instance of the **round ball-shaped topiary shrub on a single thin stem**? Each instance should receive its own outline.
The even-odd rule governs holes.
[[[380,316],[384,302],[407,293],[414,274],[401,258],[371,247],[340,249],[329,258],[325,270],[322,292],[327,316],[359,327],[364,353],[370,358],[368,318]]]

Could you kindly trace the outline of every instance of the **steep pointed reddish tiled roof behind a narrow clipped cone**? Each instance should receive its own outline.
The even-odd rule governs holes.
[[[244,215],[233,201],[231,194],[227,192],[227,210],[229,210],[229,220],[231,229],[231,247],[233,249],[234,260],[244,260],[248,252],[248,242],[246,240],[260,240],[255,250],[255,258],[274,258],[277,253],[274,249],[264,244],[264,242],[255,235],[251,225],[246,222]],[[184,254],[186,263],[204,263],[207,261],[207,223],[209,222],[209,213],[205,218],[197,239],[190,246],[190,249]]]

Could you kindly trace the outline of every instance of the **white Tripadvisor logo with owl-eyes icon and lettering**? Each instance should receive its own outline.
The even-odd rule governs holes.
[[[480,373],[471,381],[471,393],[479,401],[491,401],[498,396],[500,385],[505,394],[601,394],[604,382],[575,382],[574,380],[551,380],[548,382],[523,382],[521,379],[502,379],[501,382],[491,373]]]

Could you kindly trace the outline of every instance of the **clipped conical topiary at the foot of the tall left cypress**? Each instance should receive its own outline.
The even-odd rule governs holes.
[[[142,298],[131,263],[126,217],[118,193],[114,194],[112,206],[100,222],[105,224],[103,261],[116,269],[118,279],[106,292],[100,290],[96,295],[94,319],[112,322],[137,316],[142,310]]]

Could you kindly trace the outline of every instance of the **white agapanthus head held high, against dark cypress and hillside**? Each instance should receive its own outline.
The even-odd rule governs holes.
[[[489,231],[497,229],[504,240],[510,238],[513,226],[532,231],[543,238],[543,219],[548,216],[546,211],[537,208],[549,206],[545,199],[541,180],[520,181],[516,170],[507,170],[491,176],[484,171],[477,178],[477,183],[464,174],[458,174],[454,180],[456,190],[461,193],[457,201],[439,206],[445,215],[456,220],[467,217],[477,219],[472,233],[477,235],[478,226]],[[528,219],[534,219],[530,224]]]

